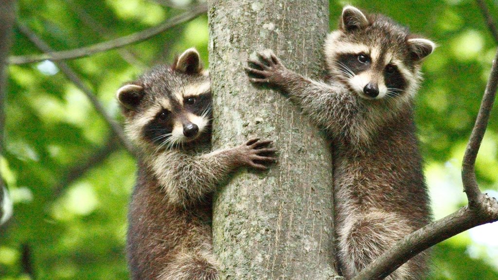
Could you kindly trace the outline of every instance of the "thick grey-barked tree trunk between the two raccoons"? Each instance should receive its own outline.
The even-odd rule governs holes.
[[[333,279],[332,160],[318,130],[285,97],[249,83],[249,55],[271,48],[298,73],[323,69],[327,0],[211,0],[215,148],[275,141],[268,172],[240,172],[214,203],[221,279]]]

